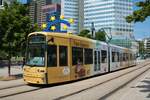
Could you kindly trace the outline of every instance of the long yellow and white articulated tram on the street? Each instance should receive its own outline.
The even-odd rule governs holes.
[[[124,67],[135,65],[131,50],[117,46],[113,48],[120,54],[127,54],[130,51],[131,59],[126,57],[128,59],[124,61]],[[33,84],[60,83],[123,68],[119,67],[120,65],[114,65],[113,69],[109,68],[112,61],[109,59],[112,55],[108,56],[110,54],[108,51],[106,43],[73,34],[30,33],[26,65],[23,69],[24,81]],[[121,59],[119,55],[114,57]],[[120,61],[118,59],[118,62]]]

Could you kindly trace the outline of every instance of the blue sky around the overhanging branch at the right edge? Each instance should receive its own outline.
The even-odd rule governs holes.
[[[133,0],[134,3],[143,0]],[[134,10],[137,7],[134,6]],[[150,17],[148,17],[144,22],[137,22],[134,24],[134,36],[135,39],[141,40],[145,37],[150,37]]]

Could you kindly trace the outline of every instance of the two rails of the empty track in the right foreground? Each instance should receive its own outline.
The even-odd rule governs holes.
[[[120,78],[120,77],[123,77],[123,76],[125,76],[125,75],[127,75],[127,74],[130,74],[130,73],[132,73],[132,72],[134,72],[134,71],[137,71],[137,70],[140,70],[140,69],[142,69],[142,68],[145,68],[145,67],[147,67],[149,64],[150,64],[150,63],[145,64],[145,65],[142,66],[142,67],[136,68],[136,69],[134,69],[134,70],[131,70],[131,71],[129,71],[129,72],[126,72],[126,73],[124,73],[124,74],[121,74],[121,75],[119,75],[119,76],[117,76],[117,77],[114,77],[114,78],[111,78],[111,79],[109,79],[109,80],[106,80],[106,81],[103,81],[103,82],[101,82],[101,83],[98,83],[98,84],[96,84],[96,85],[90,86],[90,87],[88,87],[88,88],[84,88],[84,89],[82,89],[82,90],[79,90],[79,91],[72,92],[72,93],[67,94],[67,95],[63,95],[63,96],[57,97],[57,98],[55,98],[54,100],[66,99],[66,98],[71,97],[71,96],[73,96],[73,95],[80,94],[81,92],[88,91],[88,90],[93,89],[93,88],[95,88],[95,87],[97,87],[97,86],[106,84],[106,83],[108,83],[108,82],[110,82],[110,81],[113,81],[113,80],[118,79],[118,78]],[[106,98],[107,96],[111,95],[113,92],[115,92],[115,91],[117,91],[118,89],[122,88],[124,85],[128,84],[131,80],[133,80],[133,79],[139,77],[141,74],[145,73],[145,72],[148,71],[148,70],[150,70],[150,67],[146,68],[144,71],[142,71],[141,73],[139,73],[139,74],[138,74],[137,76],[135,76],[134,78],[130,79],[130,80],[129,80],[128,82],[126,82],[125,84],[119,86],[118,88],[116,88],[116,89],[110,91],[109,93],[105,94],[104,96],[100,97],[99,100],[103,100],[104,98]]]

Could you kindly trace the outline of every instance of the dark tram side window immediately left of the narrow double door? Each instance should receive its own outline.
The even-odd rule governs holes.
[[[84,49],[85,64],[93,64],[93,50]]]

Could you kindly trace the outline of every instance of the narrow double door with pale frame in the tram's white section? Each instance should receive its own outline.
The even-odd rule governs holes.
[[[100,71],[100,51],[94,50],[94,71]]]

